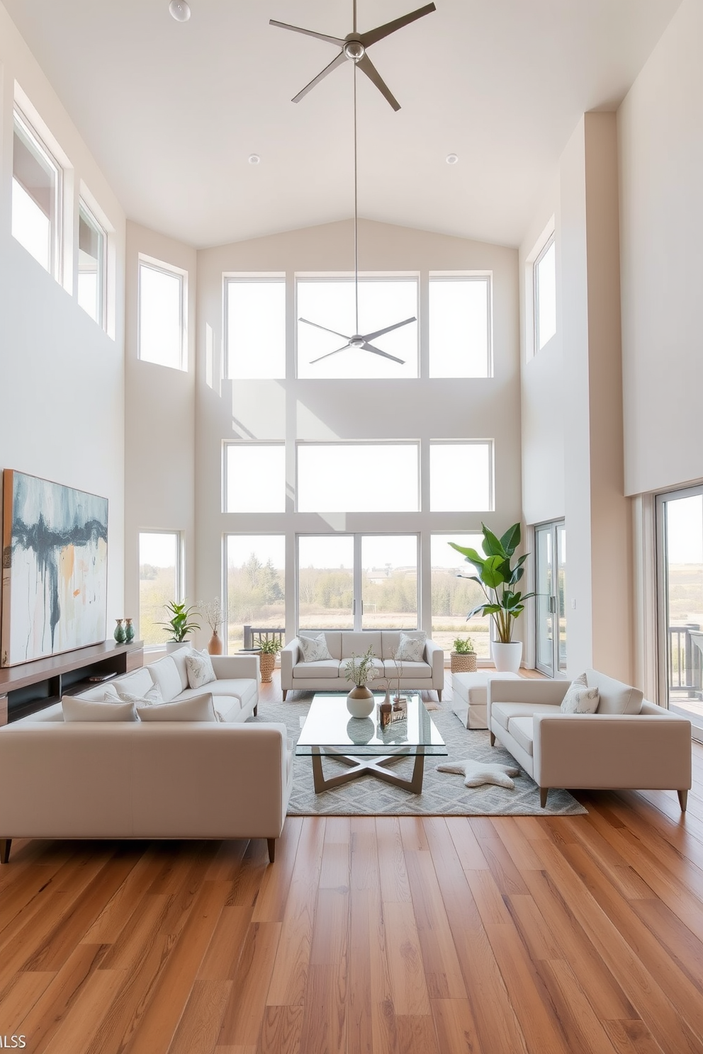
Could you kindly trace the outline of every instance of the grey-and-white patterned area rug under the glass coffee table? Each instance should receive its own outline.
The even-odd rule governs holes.
[[[259,704],[258,717],[250,721],[278,721],[286,725],[288,735],[297,742],[300,718],[310,708],[312,692],[297,694],[294,701]],[[434,704],[436,706],[436,704]],[[582,816],[588,811],[580,805],[568,790],[550,790],[547,807],[540,808],[540,789],[521,768],[515,776],[515,789],[486,785],[464,786],[462,776],[437,773],[435,766],[444,761],[474,758],[476,761],[514,763],[512,755],[501,746],[491,746],[488,733],[467,730],[451,708],[442,703],[436,709],[428,704],[432,720],[447,744],[448,757],[425,759],[423,793],[409,794],[391,786],[373,776],[362,776],[340,787],[315,794],[312,785],[312,765],[309,757],[293,761],[293,793],[288,806],[289,816]],[[412,770],[413,759],[404,758],[392,770],[406,778]],[[333,758],[323,759],[326,776],[347,770],[347,766]]]

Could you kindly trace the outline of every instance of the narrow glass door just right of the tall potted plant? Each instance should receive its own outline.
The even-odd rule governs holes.
[[[534,528],[535,665],[547,677],[566,671],[566,527],[563,522]]]

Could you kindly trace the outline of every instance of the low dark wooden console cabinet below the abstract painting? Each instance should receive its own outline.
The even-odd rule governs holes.
[[[64,695],[95,687],[89,681],[91,677],[137,669],[143,665],[143,659],[142,641],[131,644],[105,641],[0,669],[0,725],[43,710]]]

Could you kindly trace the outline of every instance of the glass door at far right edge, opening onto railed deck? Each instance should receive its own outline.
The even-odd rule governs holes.
[[[703,487],[657,497],[659,699],[703,735]]]

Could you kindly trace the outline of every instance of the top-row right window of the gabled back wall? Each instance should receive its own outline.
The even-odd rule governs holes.
[[[487,377],[490,277],[430,276],[430,376]]]

